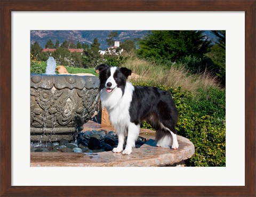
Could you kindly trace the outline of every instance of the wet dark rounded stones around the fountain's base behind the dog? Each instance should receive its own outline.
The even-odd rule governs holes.
[[[125,138],[126,141],[126,138]],[[155,146],[153,139],[148,142],[149,145]],[[135,147],[139,148],[147,143],[147,139],[139,136]],[[112,151],[117,147],[118,138],[115,132],[110,131],[106,134],[104,130],[87,130],[77,134],[76,141],[60,139],[59,142],[37,143],[31,142],[30,152],[74,152],[74,153],[99,153]],[[125,149],[126,142],[124,143]]]

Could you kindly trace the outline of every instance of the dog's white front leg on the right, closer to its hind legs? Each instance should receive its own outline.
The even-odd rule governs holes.
[[[135,141],[138,139],[140,133],[140,124],[135,125],[134,123],[130,123],[128,125],[128,136],[126,141],[125,150],[122,154],[131,154],[132,148],[135,147]]]

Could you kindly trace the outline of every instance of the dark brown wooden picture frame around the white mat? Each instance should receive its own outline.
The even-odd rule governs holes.
[[[50,6],[51,4],[51,6]],[[58,6],[54,6],[57,5]],[[2,1],[0,48],[2,196],[255,196],[255,1]],[[175,7],[173,7],[175,5]],[[52,8],[53,7],[53,8]],[[54,7],[57,7],[54,9]],[[11,186],[12,11],[245,11],[245,186]],[[254,45],[253,45],[254,43]],[[249,80],[252,79],[252,80]],[[72,193],[70,193],[70,191]]]

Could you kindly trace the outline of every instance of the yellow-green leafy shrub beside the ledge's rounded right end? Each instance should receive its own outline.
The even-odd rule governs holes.
[[[177,105],[177,132],[195,145],[195,154],[185,161],[187,166],[225,166],[226,128],[213,117],[200,116],[191,106]]]

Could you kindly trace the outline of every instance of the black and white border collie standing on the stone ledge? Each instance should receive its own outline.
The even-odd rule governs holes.
[[[101,104],[109,113],[117,131],[118,145],[113,152],[131,154],[140,133],[140,124],[147,120],[156,129],[157,146],[178,149],[178,111],[170,92],[156,87],[133,86],[126,81],[132,71],[127,68],[98,65]],[[124,138],[126,147],[123,150]]]

